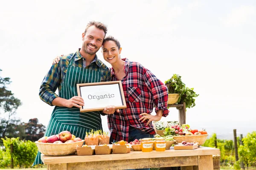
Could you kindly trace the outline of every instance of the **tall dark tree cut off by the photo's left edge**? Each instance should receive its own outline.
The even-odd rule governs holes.
[[[0,69],[0,71],[2,70]],[[10,83],[9,77],[0,77],[0,138],[4,138],[12,130],[13,125],[20,122],[14,118],[14,115],[21,102],[14,97],[12,91],[7,90],[7,85]]]

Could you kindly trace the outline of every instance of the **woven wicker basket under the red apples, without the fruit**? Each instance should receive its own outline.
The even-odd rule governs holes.
[[[81,147],[84,140],[72,143],[43,143],[36,141],[35,144],[38,147],[39,152],[43,153],[45,156],[64,156],[73,155],[76,153],[76,146]]]

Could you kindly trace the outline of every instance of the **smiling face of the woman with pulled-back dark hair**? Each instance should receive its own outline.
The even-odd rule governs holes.
[[[114,41],[106,41],[102,46],[103,57],[110,64],[113,64],[119,59],[121,51],[122,48],[118,49]]]

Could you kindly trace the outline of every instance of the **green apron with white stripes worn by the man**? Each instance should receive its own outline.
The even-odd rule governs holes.
[[[72,66],[74,56],[76,56],[76,53],[72,56],[70,64],[67,67],[67,74],[61,83],[59,96],[64,99],[77,96],[76,84],[78,83],[101,81],[100,71]],[[76,107],[66,108],[55,106],[44,136],[51,136],[68,130],[76,137],[84,139],[85,132],[89,132],[91,129],[102,130],[102,120],[99,111],[82,113]],[[40,152],[38,152],[32,166],[35,164],[43,164]]]

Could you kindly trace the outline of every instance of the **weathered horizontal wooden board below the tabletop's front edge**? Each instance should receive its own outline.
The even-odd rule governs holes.
[[[116,161],[79,162],[67,164],[67,170],[128,170],[149,167],[177,167],[185,165],[197,165],[198,156],[151,158],[151,159],[127,159]]]

